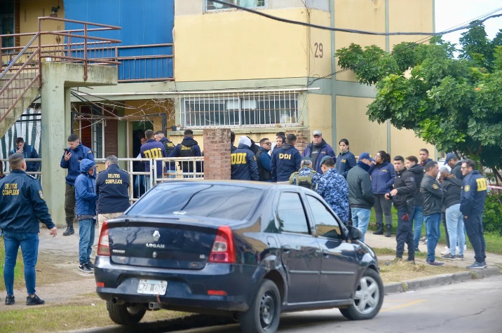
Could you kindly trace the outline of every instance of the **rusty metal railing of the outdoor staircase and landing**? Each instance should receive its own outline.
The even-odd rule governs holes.
[[[69,23],[79,29],[43,30],[42,23],[46,21]],[[120,40],[89,34],[118,29],[121,27],[44,17],[39,18],[38,32],[0,35],[0,121],[8,116],[15,104],[22,99],[30,87],[36,84],[36,81],[41,86],[43,61],[83,64],[84,81],[87,79],[88,64],[114,66],[120,64],[121,62],[116,60],[116,46],[121,43]],[[16,37],[26,36],[32,36],[32,39],[24,47],[3,47],[2,39],[15,40]],[[46,36],[52,36],[54,43],[43,45],[42,39],[48,39]],[[7,66],[4,68],[5,60]]]

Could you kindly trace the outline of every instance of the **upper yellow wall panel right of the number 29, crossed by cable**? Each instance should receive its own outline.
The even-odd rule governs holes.
[[[345,29],[358,29],[372,32],[385,32],[385,1],[384,0],[330,0],[334,1],[334,26]],[[406,20],[408,15],[403,15],[402,20]],[[351,43],[360,46],[375,44],[385,50],[385,37],[372,36],[366,34],[349,34],[347,32],[334,33],[335,50],[346,48]],[[338,65],[338,58],[335,71],[341,70]],[[345,71],[336,74],[336,79],[340,81],[355,81],[352,71]],[[348,140],[350,142],[350,140]]]

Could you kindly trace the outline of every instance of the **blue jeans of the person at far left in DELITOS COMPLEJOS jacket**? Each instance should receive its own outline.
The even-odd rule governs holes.
[[[7,294],[14,295],[14,267],[19,247],[21,247],[22,261],[25,263],[26,290],[29,295],[35,294],[35,266],[39,257],[39,234],[4,231],[4,245],[4,280]]]

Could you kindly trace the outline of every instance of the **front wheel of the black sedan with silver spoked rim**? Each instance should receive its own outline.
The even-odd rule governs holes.
[[[379,273],[367,269],[355,288],[354,299],[348,308],[341,308],[340,312],[350,320],[372,319],[380,311],[384,301],[384,283]]]

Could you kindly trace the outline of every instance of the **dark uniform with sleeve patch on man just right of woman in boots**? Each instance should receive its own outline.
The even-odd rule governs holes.
[[[416,190],[415,179],[412,172],[404,169],[395,175],[394,189],[398,193],[392,197],[395,208],[398,210],[398,229],[395,231],[395,257],[402,258],[405,252],[405,243],[408,245],[408,260],[415,259],[415,243],[412,231],[414,213],[414,196]]]

